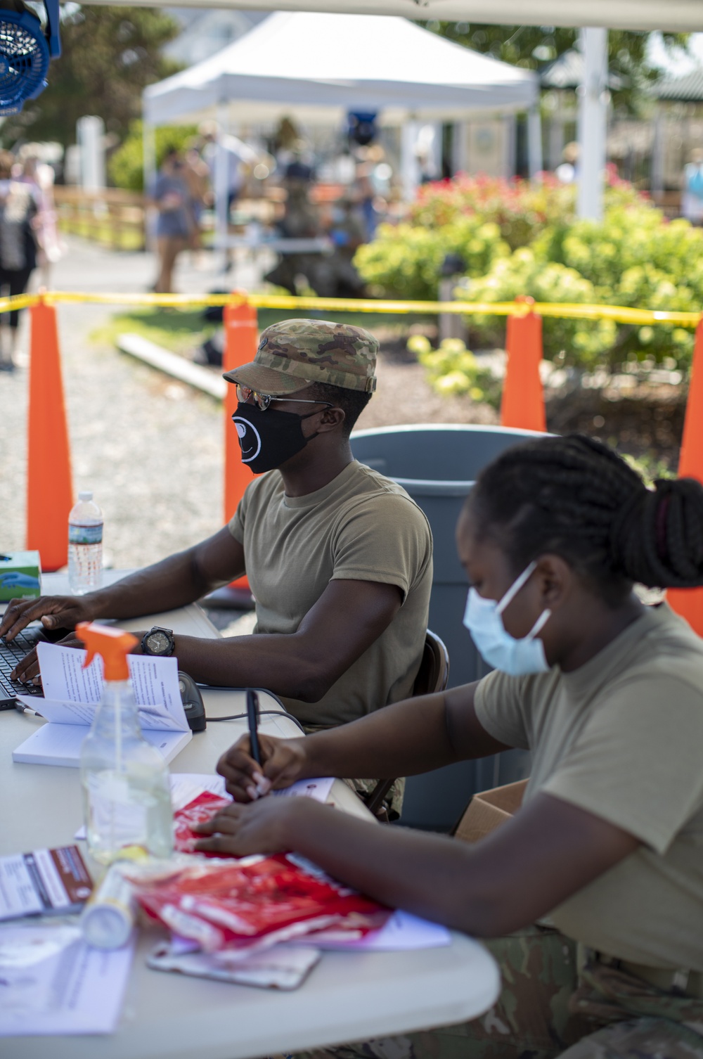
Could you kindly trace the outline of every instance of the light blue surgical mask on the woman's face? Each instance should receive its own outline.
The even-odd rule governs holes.
[[[506,631],[501,616],[536,568],[537,563],[530,562],[500,600],[485,599],[473,588],[469,589],[466,600],[464,625],[471,633],[479,653],[488,665],[510,677],[546,672],[549,668],[544,657],[544,645],[538,640],[537,633],[544,628],[552,611],[543,610],[527,635],[521,640],[516,640]]]

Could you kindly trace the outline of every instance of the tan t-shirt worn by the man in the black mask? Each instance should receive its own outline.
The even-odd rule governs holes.
[[[402,606],[319,702],[286,699],[304,724],[363,717],[412,694],[432,587],[432,535],[404,489],[354,461],[322,489],[287,497],[277,470],[254,479],[230,522],[244,544],[255,632],[292,633],[330,580],[397,585]]]

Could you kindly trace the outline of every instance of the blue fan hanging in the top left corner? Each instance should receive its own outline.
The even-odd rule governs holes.
[[[51,59],[61,54],[58,0],[43,0],[47,28],[22,0],[0,0],[0,116],[18,114],[47,87]]]

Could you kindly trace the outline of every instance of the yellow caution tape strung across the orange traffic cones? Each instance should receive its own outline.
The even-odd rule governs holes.
[[[457,316],[522,317],[539,312],[542,317],[562,320],[612,320],[618,324],[636,326],[670,324],[679,327],[697,327],[701,312],[668,312],[661,309],[634,309],[626,305],[579,305],[556,302],[410,302],[381,301],[363,298],[295,298],[288,294],[247,294],[233,291],[229,294],[138,294],[138,293],[85,293],[53,290],[42,294],[17,294],[0,298],[0,312],[24,309],[43,302],[47,305],[100,303],[103,305],[152,306],[176,309],[204,308],[206,306],[241,305],[248,303],[258,309],[322,310],[327,312],[382,312],[436,316],[449,312]]]

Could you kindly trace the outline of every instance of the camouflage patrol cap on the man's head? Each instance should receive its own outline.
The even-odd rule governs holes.
[[[280,397],[311,382],[373,393],[378,342],[363,327],[327,320],[283,320],[262,331],[253,361],[224,374]]]

